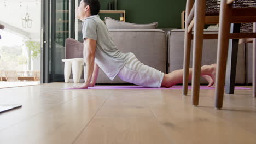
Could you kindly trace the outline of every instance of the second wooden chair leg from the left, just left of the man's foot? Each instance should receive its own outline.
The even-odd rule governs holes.
[[[199,104],[201,61],[203,46],[203,27],[205,26],[205,0],[195,1],[194,49],[193,49],[193,74],[192,74],[192,104]]]

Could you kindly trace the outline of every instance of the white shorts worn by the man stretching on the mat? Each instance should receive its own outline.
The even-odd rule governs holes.
[[[148,65],[144,65],[133,53],[129,52],[129,55],[128,61],[119,71],[118,76],[123,81],[136,85],[160,88],[164,79],[164,73]]]

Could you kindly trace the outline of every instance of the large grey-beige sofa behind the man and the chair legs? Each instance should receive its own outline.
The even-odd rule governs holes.
[[[165,32],[160,29],[109,29],[109,31],[121,52],[135,53],[139,61],[144,64],[164,73],[183,68],[184,30]],[[217,33],[217,31],[205,31],[205,33]],[[193,41],[191,45],[193,45]],[[72,52],[73,47],[67,47],[66,51]],[[250,55],[252,45],[248,44],[247,49],[246,51],[244,44],[239,45],[236,84],[252,83],[252,62],[250,60],[252,58]],[[75,48],[75,51],[76,53],[82,53],[82,47]],[[193,46],[191,47],[190,67],[192,67],[192,53]],[[82,55],[77,56],[72,55],[69,58],[83,57]],[[202,65],[216,63],[216,56],[217,40],[204,40]],[[66,53],[66,57],[68,57],[68,53]],[[111,81],[100,69],[97,83],[118,84],[127,82],[122,81],[118,76]],[[205,84],[207,82],[201,79],[201,83]]]

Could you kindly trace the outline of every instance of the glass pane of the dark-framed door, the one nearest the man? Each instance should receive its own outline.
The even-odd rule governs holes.
[[[64,80],[65,40],[70,37],[68,0],[51,1],[51,46],[50,79],[51,82]]]

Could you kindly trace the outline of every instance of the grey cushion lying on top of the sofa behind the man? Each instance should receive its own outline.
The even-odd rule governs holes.
[[[158,22],[149,24],[136,24],[118,21],[110,17],[105,17],[105,22],[108,29],[156,29],[156,27],[158,27]]]

